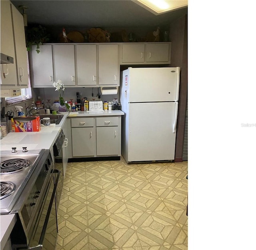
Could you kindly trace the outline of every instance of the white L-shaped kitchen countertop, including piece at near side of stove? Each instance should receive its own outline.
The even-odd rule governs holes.
[[[60,124],[54,127],[41,127],[39,132],[10,132],[7,136],[3,137],[0,141],[0,150],[10,150],[12,147],[16,147],[17,150],[22,150],[22,147],[27,147],[30,149],[51,149],[60,129],[63,127],[64,122],[68,117],[87,117],[87,116],[121,116],[124,115],[124,112],[121,110],[110,110],[104,112],[86,112],[78,111],[68,114],[64,114]],[[0,245],[1,249],[4,248],[10,232],[16,222],[16,214],[7,214],[1,215],[1,236],[0,236]]]

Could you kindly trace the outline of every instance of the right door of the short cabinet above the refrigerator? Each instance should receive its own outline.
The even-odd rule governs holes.
[[[147,62],[168,62],[169,44],[146,44]]]

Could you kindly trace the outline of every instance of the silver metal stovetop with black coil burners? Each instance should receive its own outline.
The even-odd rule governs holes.
[[[44,152],[42,149],[14,153],[11,150],[1,151],[1,214],[8,214],[12,210]]]

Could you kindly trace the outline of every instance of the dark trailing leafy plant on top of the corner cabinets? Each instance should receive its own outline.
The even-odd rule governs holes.
[[[49,42],[49,34],[46,32],[46,28],[42,25],[31,26],[26,30],[26,47],[30,51],[32,45],[36,45],[36,52],[39,53],[40,45],[44,42]]]

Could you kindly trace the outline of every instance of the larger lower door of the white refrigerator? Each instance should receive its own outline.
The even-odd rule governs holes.
[[[174,160],[177,102],[130,103],[127,162]]]

